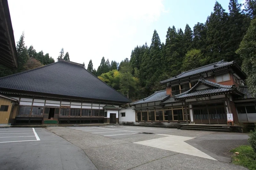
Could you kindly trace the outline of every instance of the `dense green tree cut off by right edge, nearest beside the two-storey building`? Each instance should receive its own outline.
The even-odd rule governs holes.
[[[251,21],[237,53],[241,56],[242,70],[247,74],[246,84],[253,97],[256,97],[256,18]]]

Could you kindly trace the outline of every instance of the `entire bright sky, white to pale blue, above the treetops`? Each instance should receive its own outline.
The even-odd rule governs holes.
[[[242,2],[244,0],[239,0]],[[8,0],[15,41],[25,32],[26,46],[57,61],[59,51],[70,61],[98,68],[102,56],[120,63],[132,49],[151,44],[154,30],[165,43],[169,26],[191,29],[205,22],[215,0]],[[229,0],[219,0],[228,11]]]

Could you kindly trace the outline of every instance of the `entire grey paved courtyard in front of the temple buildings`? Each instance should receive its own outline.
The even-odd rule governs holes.
[[[122,125],[27,129],[22,140],[29,141],[1,143],[0,136],[1,169],[245,169],[228,163],[228,151],[247,144],[247,134]]]

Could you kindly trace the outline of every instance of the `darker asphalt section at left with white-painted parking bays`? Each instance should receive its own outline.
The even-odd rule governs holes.
[[[97,169],[82,149],[45,128],[0,131],[1,170]]]

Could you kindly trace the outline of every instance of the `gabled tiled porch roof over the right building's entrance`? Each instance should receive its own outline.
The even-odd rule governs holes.
[[[207,86],[213,87],[213,88],[196,90],[197,86],[199,86],[200,84],[204,84],[204,85],[207,85]],[[197,97],[197,96],[207,95],[207,94],[228,92],[228,91],[232,91],[234,89],[235,89],[235,86],[233,86],[233,85],[226,86],[226,85],[221,85],[221,84],[218,84],[218,83],[214,83],[214,82],[211,82],[211,81],[208,81],[208,80],[205,80],[205,79],[199,79],[197,84],[194,87],[192,87],[188,91],[185,91],[182,94],[175,95],[173,97],[175,99],[184,99],[184,98],[188,98],[188,97]]]

